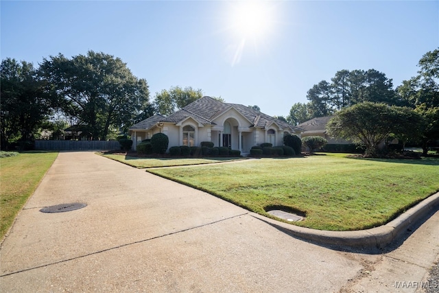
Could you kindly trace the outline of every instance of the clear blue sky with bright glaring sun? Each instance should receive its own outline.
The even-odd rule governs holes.
[[[314,84],[342,69],[376,69],[398,86],[439,46],[439,1],[0,5],[2,60],[37,66],[59,53],[102,51],[145,78],[151,99],[171,86],[192,86],[226,102],[258,105],[268,115],[287,116],[294,103],[307,102]],[[256,22],[248,19],[252,13]]]

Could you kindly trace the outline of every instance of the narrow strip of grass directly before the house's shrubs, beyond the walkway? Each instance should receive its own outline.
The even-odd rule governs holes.
[[[222,163],[226,161],[244,160],[244,158],[139,158],[136,156],[124,156],[121,154],[102,154],[109,159],[137,168],[174,167],[186,165],[201,165]]]

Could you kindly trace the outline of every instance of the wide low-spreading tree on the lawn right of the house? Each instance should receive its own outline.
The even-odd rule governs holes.
[[[418,115],[408,108],[364,102],[335,113],[327,131],[331,137],[361,143],[366,146],[366,155],[377,156],[380,143],[391,134],[396,138],[410,136],[419,127],[419,121]]]

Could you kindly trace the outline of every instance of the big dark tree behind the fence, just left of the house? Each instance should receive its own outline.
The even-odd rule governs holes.
[[[90,139],[107,139],[110,130],[126,128],[149,105],[146,80],[135,77],[120,58],[102,52],[71,59],[50,56],[40,71],[64,99],[64,113],[77,117]]]

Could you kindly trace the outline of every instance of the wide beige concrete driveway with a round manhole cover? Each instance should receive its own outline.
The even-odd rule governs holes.
[[[87,206],[40,212],[69,202]],[[423,280],[438,227],[436,212],[388,253],[337,251],[144,170],[61,152],[1,245],[0,292],[414,292],[395,284]]]

